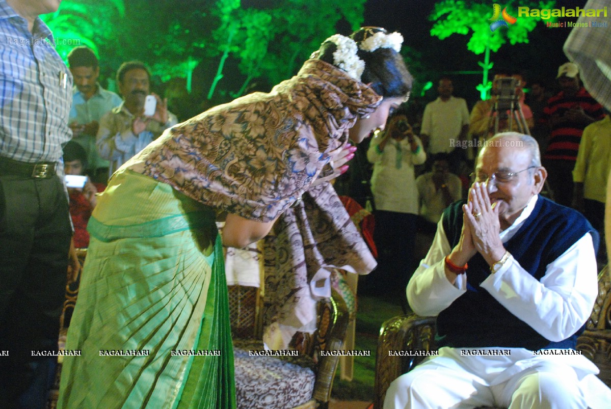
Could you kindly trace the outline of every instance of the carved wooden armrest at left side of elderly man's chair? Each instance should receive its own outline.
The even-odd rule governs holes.
[[[391,355],[390,351],[414,353],[435,350],[435,333],[434,317],[410,314],[393,317],[382,324],[376,353],[374,408],[382,408],[386,391],[393,380],[411,371],[425,358],[424,355]]]

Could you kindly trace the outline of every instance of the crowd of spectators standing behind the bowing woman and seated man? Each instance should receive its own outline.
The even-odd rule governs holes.
[[[90,177],[87,187],[98,186],[92,183],[104,184],[116,168],[178,119],[167,109],[167,100],[155,93],[155,114],[142,115],[145,96],[151,94],[150,72],[143,63],[126,62],[119,68],[121,98],[98,82],[99,62],[89,48],[73,49],[68,62],[75,78],[70,110],[73,141],[87,155],[82,169]],[[497,84],[502,78],[518,84],[514,112],[497,107]],[[368,279],[373,292],[381,291],[376,283],[387,283],[388,278],[398,284],[396,288],[404,288],[423,256],[418,249],[430,245],[442,211],[466,197],[474,159],[497,132],[532,134],[549,172],[543,194],[583,212],[602,233],[606,183],[599,181],[606,181],[609,173],[604,160],[609,118],[603,119],[602,107],[580,83],[577,65],[563,64],[555,80],[555,84],[550,78],[526,81],[518,70],[500,70],[490,98],[477,101],[469,112],[467,101],[453,95],[459,78],[443,76],[435,100],[408,103],[389,118],[386,131],[363,143],[336,189],[375,211],[378,269]],[[71,199],[76,200],[73,195]],[[599,262],[605,261],[602,251]]]

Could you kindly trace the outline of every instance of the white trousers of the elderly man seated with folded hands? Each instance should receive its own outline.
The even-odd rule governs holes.
[[[519,360],[521,354],[515,349],[513,357],[461,357],[458,351],[443,348],[440,356],[394,380],[384,409],[579,409],[597,408],[586,397],[593,389],[606,399],[611,397],[609,388],[593,374],[582,368],[578,374],[569,364],[572,359],[566,363],[563,357]],[[602,402],[608,405],[609,400]]]

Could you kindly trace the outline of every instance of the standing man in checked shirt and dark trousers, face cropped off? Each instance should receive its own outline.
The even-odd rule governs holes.
[[[38,18],[59,3],[0,0],[2,408],[42,408],[57,360],[35,352],[57,350],[72,236],[62,164],[72,77]]]

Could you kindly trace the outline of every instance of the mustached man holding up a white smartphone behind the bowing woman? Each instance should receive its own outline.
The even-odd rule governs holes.
[[[142,62],[124,62],[117,71],[117,84],[123,103],[100,119],[97,135],[98,153],[110,161],[109,177],[163,131],[178,123],[176,115],[167,110],[167,99],[161,100],[150,92],[150,73]],[[156,101],[152,113],[145,112],[147,96],[148,100],[155,98]]]

